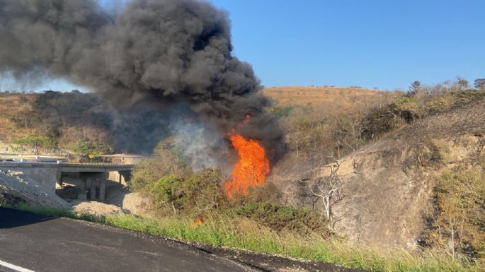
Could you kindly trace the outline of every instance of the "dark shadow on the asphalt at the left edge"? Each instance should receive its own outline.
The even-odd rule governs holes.
[[[40,215],[37,213],[0,207],[0,229],[21,227],[23,225],[41,223],[52,219],[56,218],[49,215]]]

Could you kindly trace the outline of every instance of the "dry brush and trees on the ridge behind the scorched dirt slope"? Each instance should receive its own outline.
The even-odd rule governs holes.
[[[282,95],[275,93],[275,96]],[[285,108],[277,104],[269,111],[279,117],[290,151],[300,159],[307,158],[312,165],[326,164],[418,119],[485,97],[485,90],[469,88],[467,81],[457,78],[430,86],[415,81],[407,93],[396,91],[374,97],[377,99],[353,100],[342,93],[332,102],[308,102],[307,105],[300,98],[297,104],[288,102]],[[343,104],[350,101],[352,106]]]

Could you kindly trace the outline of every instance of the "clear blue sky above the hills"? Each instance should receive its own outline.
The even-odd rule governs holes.
[[[234,54],[266,86],[393,90],[485,77],[485,0],[211,1],[229,13]]]

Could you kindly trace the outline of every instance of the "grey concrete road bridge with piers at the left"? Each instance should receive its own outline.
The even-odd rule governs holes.
[[[90,199],[101,201],[105,199],[106,180],[122,184],[130,179],[134,166],[114,163],[0,162],[0,170],[23,172],[52,192],[55,192],[56,183],[62,185],[63,179],[80,179],[79,199],[87,199],[89,192]]]

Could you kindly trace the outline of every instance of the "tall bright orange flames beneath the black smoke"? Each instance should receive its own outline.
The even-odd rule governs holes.
[[[270,162],[258,141],[246,140],[234,132],[229,133],[229,136],[239,155],[239,162],[234,165],[232,180],[224,184],[224,187],[229,198],[236,193],[247,196],[249,187],[261,186],[264,183],[266,175],[270,172]]]

